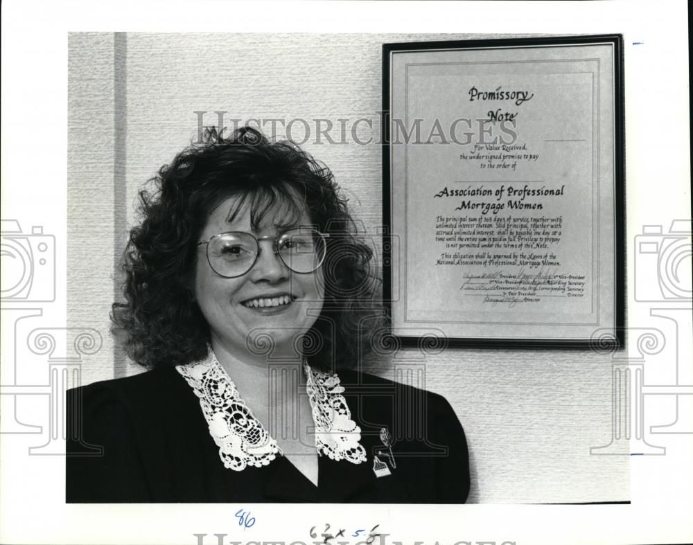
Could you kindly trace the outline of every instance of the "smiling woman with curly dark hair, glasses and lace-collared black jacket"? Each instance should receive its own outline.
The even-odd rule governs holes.
[[[463,503],[448,402],[358,371],[382,312],[331,172],[244,127],[153,182],[112,313],[150,370],[69,391],[67,501]]]

